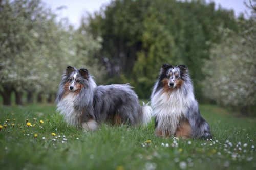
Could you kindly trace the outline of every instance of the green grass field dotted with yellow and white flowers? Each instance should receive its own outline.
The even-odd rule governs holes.
[[[256,168],[256,119],[236,118],[223,108],[200,105],[214,136],[208,141],[156,137],[154,121],[146,127],[104,124],[85,134],[67,126],[55,109],[0,106],[1,169]]]

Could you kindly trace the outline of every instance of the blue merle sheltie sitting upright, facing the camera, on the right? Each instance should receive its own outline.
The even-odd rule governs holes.
[[[211,138],[210,126],[202,118],[185,65],[164,64],[151,94],[156,135]]]

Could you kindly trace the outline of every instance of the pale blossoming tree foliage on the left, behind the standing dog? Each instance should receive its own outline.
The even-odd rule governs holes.
[[[68,20],[56,15],[39,0],[1,1],[0,92],[55,94],[68,65],[86,67],[99,75],[94,55],[101,39],[74,30]],[[6,94],[9,92],[9,94]],[[4,99],[6,100],[6,99]]]

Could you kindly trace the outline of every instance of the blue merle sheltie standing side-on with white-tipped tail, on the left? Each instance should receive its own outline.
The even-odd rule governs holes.
[[[68,66],[59,86],[57,111],[66,122],[86,131],[97,130],[102,122],[121,125],[148,123],[150,106],[139,105],[138,96],[128,84],[97,86],[87,69]]]

